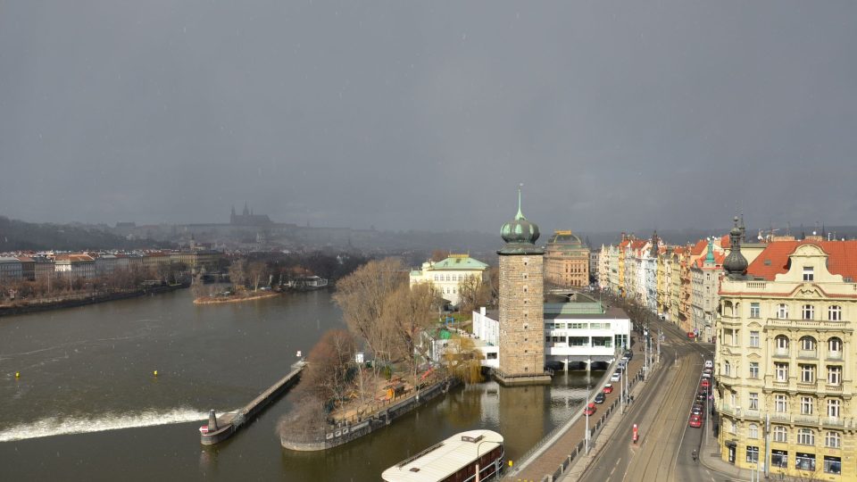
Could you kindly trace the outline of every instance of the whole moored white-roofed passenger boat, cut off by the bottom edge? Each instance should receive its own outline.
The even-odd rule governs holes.
[[[493,480],[500,477],[504,457],[503,436],[492,430],[469,430],[395,464],[381,478],[385,482]]]

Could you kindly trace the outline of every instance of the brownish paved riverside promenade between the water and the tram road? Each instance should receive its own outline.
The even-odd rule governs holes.
[[[642,346],[642,343],[637,343],[634,346]],[[642,389],[642,384],[638,383],[643,372],[644,366],[643,352],[634,350],[634,358],[628,363],[628,370],[625,375],[631,377],[628,379],[628,394],[635,396],[639,389]],[[622,410],[620,396],[622,388],[620,382],[612,383],[609,381],[610,375],[615,370],[615,363],[611,365],[611,370],[607,370],[604,378],[593,386],[587,403],[592,402],[599,392],[602,391],[604,384],[611,383],[613,391],[607,394],[604,403],[596,404],[594,415],[589,416],[590,434],[595,434],[602,430],[609,420],[615,420],[617,411]],[[625,380],[621,381],[624,384]],[[556,428],[553,433],[548,434],[539,442],[529,453],[525,454],[520,461],[512,461],[513,466],[506,470],[503,480],[516,482],[541,482],[543,480],[559,480],[563,473],[568,472],[570,465],[577,462],[586,454],[586,446],[584,439],[587,431],[587,418],[583,414],[584,403],[578,413],[570,418],[565,424]],[[632,402],[633,403],[633,402]],[[590,442],[592,443],[592,442]]]

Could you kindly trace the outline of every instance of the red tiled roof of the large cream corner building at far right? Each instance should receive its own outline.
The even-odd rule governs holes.
[[[857,240],[774,241],[747,267],[747,274],[773,280],[788,271],[788,256],[799,245],[817,245],[828,254],[828,270],[845,278],[857,279]]]

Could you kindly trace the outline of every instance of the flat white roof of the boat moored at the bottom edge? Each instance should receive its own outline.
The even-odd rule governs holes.
[[[432,482],[443,480],[457,470],[503,445],[503,436],[493,430],[469,430],[428,447],[411,458],[384,470],[387,482]]]

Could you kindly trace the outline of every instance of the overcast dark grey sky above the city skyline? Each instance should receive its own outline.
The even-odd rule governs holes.
[[[857,2],[0,0],[0,214],[857,223]]]

